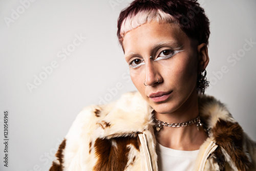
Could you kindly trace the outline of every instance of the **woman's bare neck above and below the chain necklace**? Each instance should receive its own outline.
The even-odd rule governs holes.
[[[197,94],[191,95],[185,103],[173,113],[160,114],[154,111],[155,118],[167,123],[182,123],[193,120],[199,114]],[[191,124],[184,127],[162,126],[156,133],[157,141],[169,148],[193,151],[199,149],[201,144],[207,138],[202,127],[197,124]]]

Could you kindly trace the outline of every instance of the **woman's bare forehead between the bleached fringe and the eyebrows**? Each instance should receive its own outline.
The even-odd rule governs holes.
[[[179,48],[190,43],[190,38],[175,24],[150,22],[125,33],[123,49],[124,53],[146,50],[165,42],[172,42],[174,48]]]

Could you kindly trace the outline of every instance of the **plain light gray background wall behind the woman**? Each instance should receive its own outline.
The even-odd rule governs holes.
[[[22,2],[28,1],[0,1],[1,137],[4,110],[9,110],[10,119],[9,167],[3,166],[0,143],[0,170],[48,170],[58,144],[84,106],[135,90],[116,37],[119,12],[131,1],[37,0],[25,4],[27,8],[20,7]],[[211,30],[211,85],[206,94],[223,101],[256,140],[256,45],[242,50],[246,39],[256,42],[256,1],[200,2]],[[19,16],[12,15],[12,9],[19,10]],[[7,24],[7,17],[15,19]],[[59,58],[62,48],[72,50],[76,34],[87,38],[66,59]],[[232,53],[242,57],[234,60]],[[58,67],[42,75],[47,78],[30,92],[27,83],[33,84],[34,75],[53,61]]]

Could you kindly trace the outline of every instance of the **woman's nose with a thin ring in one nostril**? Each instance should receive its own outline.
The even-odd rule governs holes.
[[[154,61],[150,60],[145,64],[146,79],[144,84],[148,86],[153,86],[155,83],[159,82],[160,74],[158,67],[154,64]]]

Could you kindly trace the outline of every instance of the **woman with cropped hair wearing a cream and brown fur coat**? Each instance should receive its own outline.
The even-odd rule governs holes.
[[[197,1],[134,1],[118,32],[138,92],[84,109],[50,170],[255,170],[256,145],[204,94],[209,22]]]

